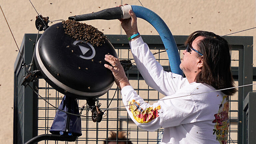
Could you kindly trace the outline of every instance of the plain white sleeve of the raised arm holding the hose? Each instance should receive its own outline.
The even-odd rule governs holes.
[[[129,44],[136,65],[148,86],[170,96],[188,84],[187,79],[181,75],[164,71],[141,37]]]

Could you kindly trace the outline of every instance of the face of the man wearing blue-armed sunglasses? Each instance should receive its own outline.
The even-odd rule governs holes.
[[[192,47],[195,50],[198,50],[197,43],[198,41],[202,40],[204,37],[199,36],[192,42]],[[197,64],[201,60],[200,57],[198,57],[198,53],[191,50],[191,52],[187,52],[186,50],[183,51],[183,58],[181,60],[180,68],[184,72],[184,74],[188,75],[191,73],[195,73],[198,71]]]

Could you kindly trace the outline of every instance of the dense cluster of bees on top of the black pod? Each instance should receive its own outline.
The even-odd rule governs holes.
[[[76,40],[86,41],[97,47],[102,46],[102,44],[105,43],[106,37],[103,32],[91,25],[76,22],[74,20],[62,21],[62,25],[65,34]]]

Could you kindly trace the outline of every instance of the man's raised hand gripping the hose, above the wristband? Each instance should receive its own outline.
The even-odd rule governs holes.
[[[128,4],[124,4],[124,5],[128,5]],[[122,5],[119,5],[119,7],[121,7],[121,6]],[[129,15],[131,16],[131,18],[129,18],[129,19],[119,19],[121,26],[124,29],[127,37],[130,37],[138,32],[137,17],[135,15],[135,13],[132,10],[129,10]],[[137,36],[137,37],[139,37],[139,36]]]

